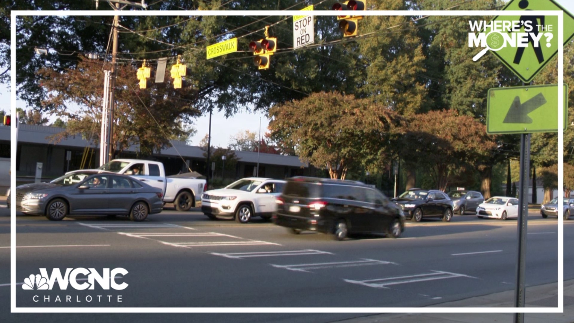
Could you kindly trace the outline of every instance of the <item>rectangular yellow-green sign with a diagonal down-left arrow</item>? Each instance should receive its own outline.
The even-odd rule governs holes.
[[[488,90],[486,132],[533,133],[566,129],[568,86],[564,84],[564,125],[558,126],[558,85],[498,87]]]

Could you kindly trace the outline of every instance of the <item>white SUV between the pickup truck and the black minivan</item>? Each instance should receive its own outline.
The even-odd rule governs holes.
[[[275,198],[281,195],[286,181],[248,177],[224,189],[205,191],[201,195],[201,212],[208,218],[235,218],[247,223],[252,217],[269,220],[277,208]]]

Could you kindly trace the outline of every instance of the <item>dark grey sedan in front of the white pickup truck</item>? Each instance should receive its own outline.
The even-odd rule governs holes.
[[[67,215],[107,214],[143,221],[160,213],[162,191],[129,176],[75,171],[49,183],[16,187],[16,210],[62,220]]]

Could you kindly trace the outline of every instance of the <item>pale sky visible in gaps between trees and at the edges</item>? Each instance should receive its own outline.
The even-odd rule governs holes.
[[[540,0],[539,0],[540,1]],[[574,0],[554,0],[560,3],[566,10],[574,14]],[[24,102],[18,101],[16,107],[27,110]],[[10,92],[4,84],[0,84],[0,110],[10,110]],[[263,135],[269,125],[269,120],[262,113],[238,113],[226,118],[223,111],[214,111],[211,120],[211,142],[214,147],[227,147],[232,136],[245,130],[259,133],[259,121],[261,120],[261,134]],[[209,115],[197,118],[193,125],[197,129],[195,136],[191,138],[192,145],[199,145],[209,130]]]

